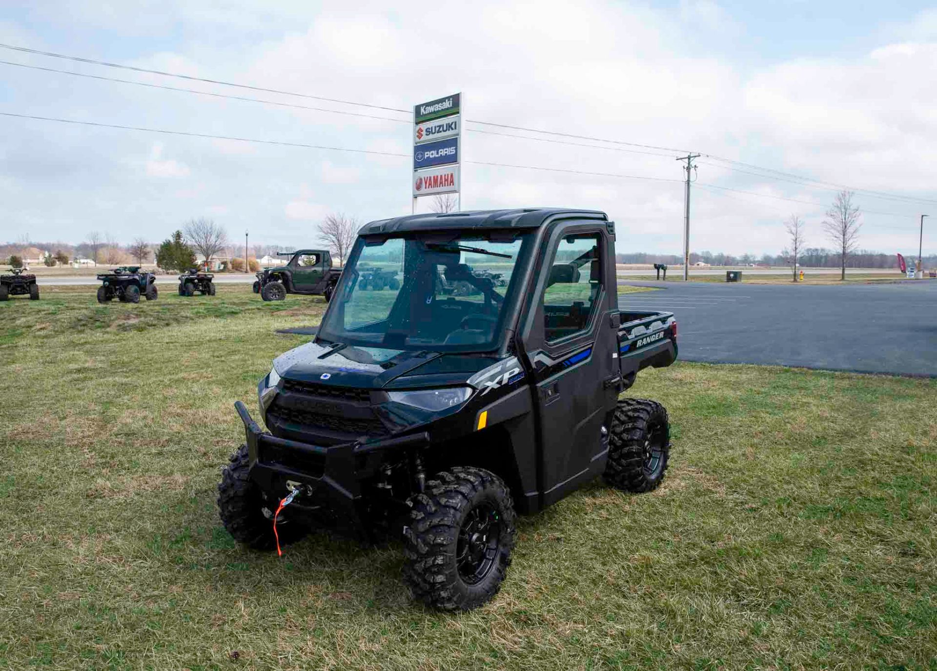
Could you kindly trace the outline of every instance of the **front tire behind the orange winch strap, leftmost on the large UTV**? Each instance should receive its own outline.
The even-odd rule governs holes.
[[[279,502],[264,499],[260,488],[247,476],[250,471],[247,445],[238,447],[230,461],[221,472],[221,482],[218,483],[218,515],[221,523],[238,543],[256,550],[272,550],[276,547],[272,518]],[[271,518],[263,514],[264,508]],[[281,513],[277,519],[276,532],[282,547],[302,539],[308,530],[283,519]]]

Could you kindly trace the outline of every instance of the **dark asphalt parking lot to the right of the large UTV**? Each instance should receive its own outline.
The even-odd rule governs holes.
[[[937,282],[672,284],[622,309],[677,315],[680,358],[937,376]]]

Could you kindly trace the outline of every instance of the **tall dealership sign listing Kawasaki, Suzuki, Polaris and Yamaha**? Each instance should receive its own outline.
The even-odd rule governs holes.
[[[441,194],[458,194],[462,209],[461,102],[462,94],[454,94],[413,106],[413,212],[417,198]]]

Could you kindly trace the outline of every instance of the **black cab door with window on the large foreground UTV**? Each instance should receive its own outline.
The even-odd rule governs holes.
[[[613,257],[605,222],[559,224],[537,273],[524,342],[539,409],[543,505],[604,468],[620,388]]]

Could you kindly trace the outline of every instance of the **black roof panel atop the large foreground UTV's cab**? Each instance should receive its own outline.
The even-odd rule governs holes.
[[[536,228],[555,218],[608,220],[605,212],[567,210],[563,208],[479,210],[474,212],[447,212],[445,214],[430,212],[373,221],[362,226],[358,231],[358,235],[447,228]]]

